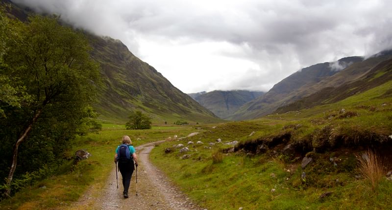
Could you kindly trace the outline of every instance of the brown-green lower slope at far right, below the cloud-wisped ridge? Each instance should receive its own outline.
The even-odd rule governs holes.
[[[364,76],[353,82],[348,82],[338,87],[325,87],[310,96],[278,108],[276,113],[286,113],[288,111],[312,108],[316,105],[335,103],[389,81],[392,81],[392,59],[379,63]],[[389,91],[383,97],[391,95],[392,92]]]

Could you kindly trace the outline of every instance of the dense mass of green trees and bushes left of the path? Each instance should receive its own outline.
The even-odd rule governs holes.
[[[48,175],[75,135],[98,127],[89,104],[99,79],[81,33],[55,17],[0,17],[0,36],[8,36],[0,52],[0,176],[10,195],[23,180]]]

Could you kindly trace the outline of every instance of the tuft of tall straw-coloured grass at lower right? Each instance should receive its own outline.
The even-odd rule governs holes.
[[[371,189],[375,191],[385,174],[382,160],[376,152],[368,150],[358,157],[358,161],[360,173],[370,181]]]

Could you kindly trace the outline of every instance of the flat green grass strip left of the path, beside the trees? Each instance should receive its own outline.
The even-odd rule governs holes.
[[[86,160],[73,164],[68,161],[48,179],[26,187],[10,199],[1,201],[0,209],[69,209],[72,202],[92,186],[93,196],[98,196],[105,180],[113,168],[113,156],[123,135],[128,135],[133,145],[165,140],[177,135],[184,137],[196,132],[191,126],[153,126],[149,130],[126,130],[123,125],[103,124],[99,134],[78,137],[73,148],[65,155],[72,158],[77,149],[86,149],[92,154]],[[137,140],[140,139],[140,140]]]

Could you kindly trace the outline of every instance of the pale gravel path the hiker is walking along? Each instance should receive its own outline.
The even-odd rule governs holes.
[[[149,153],[157,143],[136,147],[139,160],[138,196],[136,196],[136,170],[133,172],[129,198],[123,198],[122,177],[118,172],[119,189],[116,185],[116,168],[113,167],[107,179],[106,188],[97,199],[89,196],[89,190],[74,209],[94,210],[199,210],[201,209],[180,192],[168,178],[149,161]],[[73,208],[72,208],[73,209]]]

